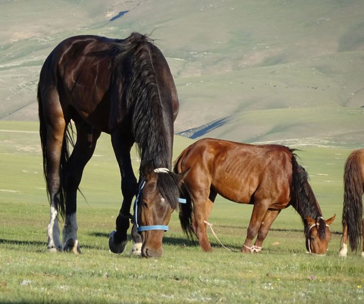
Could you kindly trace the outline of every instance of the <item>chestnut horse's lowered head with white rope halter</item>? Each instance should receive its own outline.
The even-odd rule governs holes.
[[[306,216],[306,248],[309,253],[325,255],[328,242],[331,240],[331,232],[329,225],[335,219],[336,214],[327,220],[322,217],[315,220],[310,216]]]

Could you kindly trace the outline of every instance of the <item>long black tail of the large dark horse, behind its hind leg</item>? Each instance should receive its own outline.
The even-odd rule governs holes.
[[[43,153],[43,173],[44,178],[46,180],[47,184],[47,196],[48,200],[50,200],[49,197],[49,184],[48,184],[48,173],[49,173],[49,163],[47,161],[47,126],[44,120],[44,113],[43,113],[43,102],[42,102],[42,93],[40,89],[40,84],[38,84],[38,113],[39,113],[39,134],[41,137],[41,145],[42,145],[42,153]],[[60,160],[60,189],[58,194],[58,205],[57,205],[57,211],[60,214],[60,216],[63,218],[65,214],[65,188],[63,184],[63,171],[65,168],[65,164],[70,158],[70,152],[69,152],[69,142],[74,146],[74,140],[73,140],[73,130],[72,125],[69,124],[69,127],[67,128],[66,132],[64,132],[64,139],[62,144],[62,150],[61,150],[61,160]]]

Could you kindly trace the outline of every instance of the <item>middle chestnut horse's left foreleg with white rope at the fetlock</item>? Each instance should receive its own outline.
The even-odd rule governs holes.
[[[241,250],[243,253],[246,252],[253,253],[255,251],[260,251],[261,248],[257,248],[257,250],[255,250],[254,246],[252,246],[252,242],[258,233],[264,215],[267,213],[268,210],[267,206],[268,204],[264,204],[263,201],[254,202],[254,208],[250,218],[247,238],[245,239],[244,245]]]

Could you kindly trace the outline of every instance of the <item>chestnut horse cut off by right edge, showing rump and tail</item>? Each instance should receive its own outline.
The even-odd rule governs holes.
[[[357,250],[362,238],[361,256],[364,257],[364,218],[362,195],[364,188],[364,149],[353,151],[345,163],[343,237],[339,255],[346,256],[348,239],[352,251]]]

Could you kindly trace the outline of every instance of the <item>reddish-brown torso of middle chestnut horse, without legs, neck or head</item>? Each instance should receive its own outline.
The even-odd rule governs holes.
[[[273,200],[283,209],[290,201],[291,160],[290,149],[282,145],[206,138],[187,147],[176,167],[178,171],[191,168],[185,178],[190,187],[204,183],[231,201],[251,203],[254,196]]]

